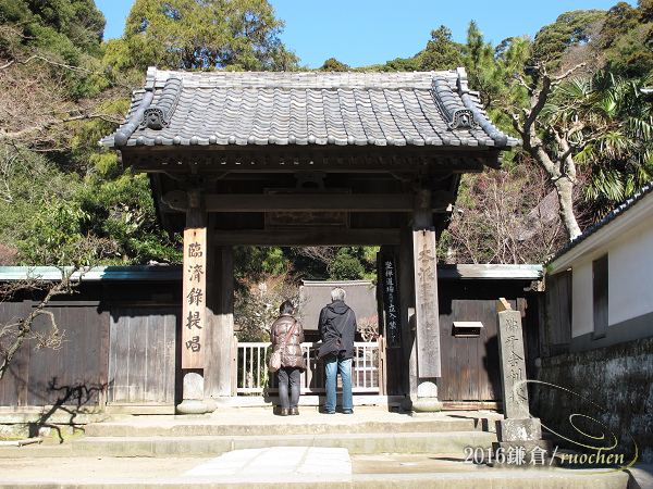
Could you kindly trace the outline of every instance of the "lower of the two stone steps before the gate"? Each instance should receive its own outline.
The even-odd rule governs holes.
[[[269,447],[345,448],[352,454],[465,453],[467,447],[485,451],[496,435],[485,431],[455,432],[331,432],[306,435],[87,437],[73,441],[76,455],[193,456],[221,455],[233,450]]]

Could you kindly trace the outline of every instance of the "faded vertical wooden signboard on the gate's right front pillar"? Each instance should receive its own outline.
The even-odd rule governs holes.
[[[435,231],[412,231],[412,247],[417,372],[420,378],[441,377]]]

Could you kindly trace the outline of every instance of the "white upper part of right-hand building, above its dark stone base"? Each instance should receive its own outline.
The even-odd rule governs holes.
[[[569,351],[653,336],[652,190],[642,188],[550,262],[547,279],[570,285],[566,298],[558,294],[560,305],[569,301]]]

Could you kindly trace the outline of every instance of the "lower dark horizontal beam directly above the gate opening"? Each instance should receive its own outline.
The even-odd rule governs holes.
[[[215,246],[346,247],[398,244],[398,229],[243,229],[214,230]]]

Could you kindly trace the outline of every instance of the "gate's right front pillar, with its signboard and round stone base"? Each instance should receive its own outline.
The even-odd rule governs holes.
[[[440,309],[438,301],[436,239],[431,190],[421,189],[412,214],[412,266],[415,279],[415,339],[417,356],[416,412],[442,411],[438,399],[441,377]]]

